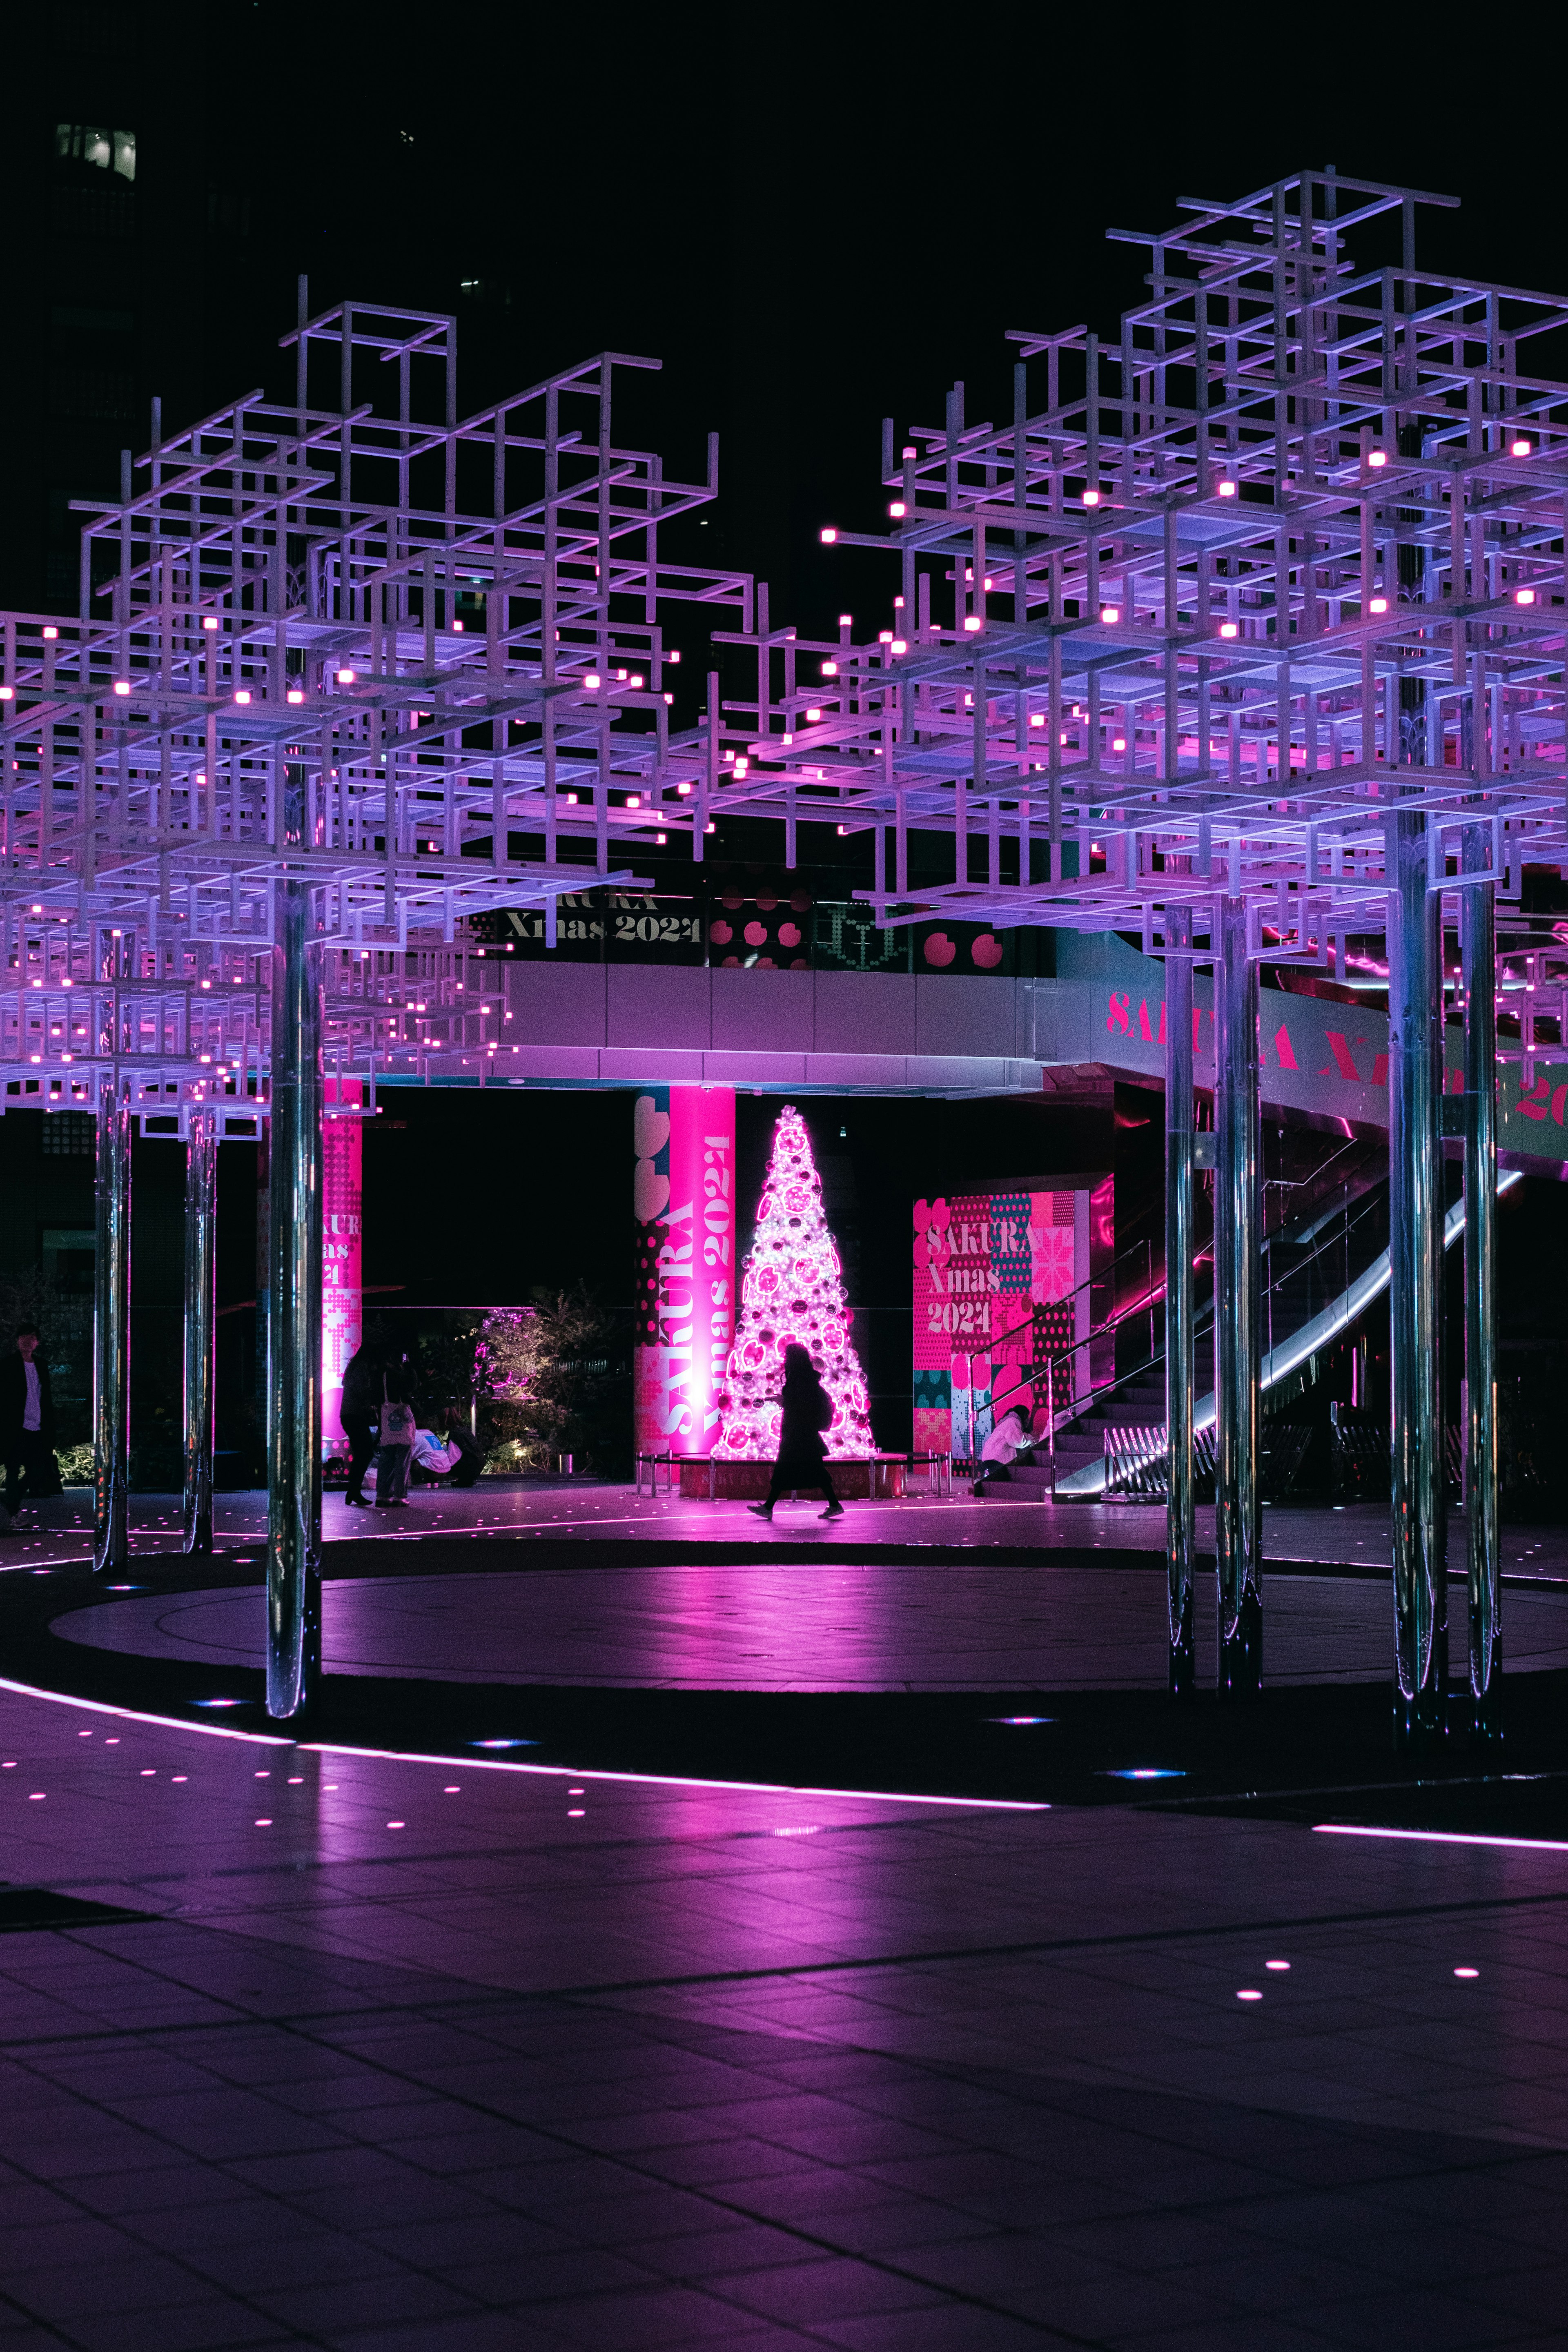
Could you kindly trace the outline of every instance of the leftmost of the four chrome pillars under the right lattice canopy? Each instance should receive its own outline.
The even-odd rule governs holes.
[[[1166,946],[1192,948],[1190,908],[1166,908]],[[1171,1696],[1192,1689],[1192,964],[1166,957],[1166,1578]]]

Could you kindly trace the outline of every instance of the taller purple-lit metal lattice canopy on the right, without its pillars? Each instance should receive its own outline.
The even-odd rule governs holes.
[[[1568,303],[1418,268],[1450,202],[1333,172],[1187,200],[1128,233],[1117,343],[1013,336],[1011,423],[969,426],[964,386],[940,428],[889,419],[889,534],[820,534],[893,553],[889,626],[780,701],[750,640],[724,807],[877,826],[882,920],[919,830],[952,840],[926,910],[1157,946],[1222,889],[1314,962],[1382,929],[1394,800],[1434,884],[1476,821],[1505,894],[1561,856],[1568,386],[1528,360]],[[1380,214],[1401,263],[1361,268]]]

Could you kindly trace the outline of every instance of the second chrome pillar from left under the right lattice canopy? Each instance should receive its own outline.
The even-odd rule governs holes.
[[[1262,1510],[1258,1503],[1258,964],[1246,901],[1215,906],[1213,1397],[1220,1689],[1262,1689]]]

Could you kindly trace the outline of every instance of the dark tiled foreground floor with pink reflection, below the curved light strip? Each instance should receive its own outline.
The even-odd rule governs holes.
[[[0,2352],[1563,2343],[1566,1851],[0,1693]]]

